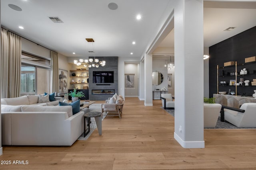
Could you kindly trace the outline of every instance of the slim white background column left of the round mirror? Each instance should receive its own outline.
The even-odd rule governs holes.
[[[153,106],[152,103],[152,55],[144,56],[144,106]]]

